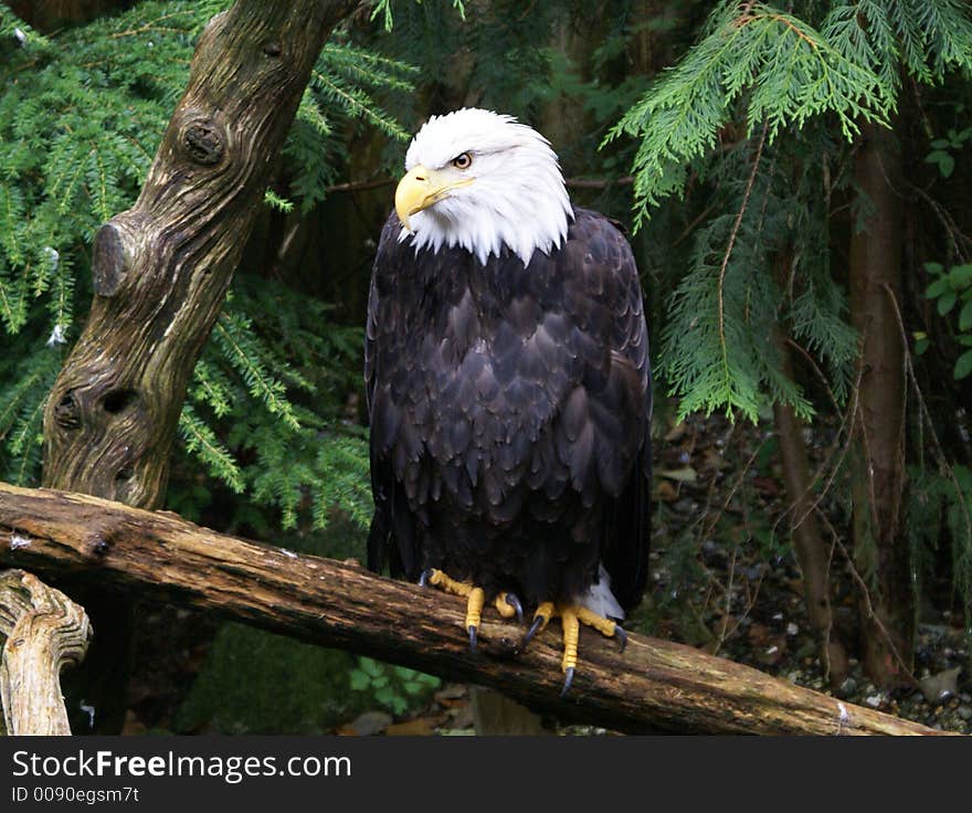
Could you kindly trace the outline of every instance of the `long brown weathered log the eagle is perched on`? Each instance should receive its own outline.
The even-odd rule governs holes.
[[[0,484],[0,560],[52,577],[87,572],[145,598],[489,686],[560,719],[622,731],[939,733],[689,646],[631,635],[620,653],[587,630],[581,669],[561,700],[556,624],[519,652],[524,630],[487,615],[472,654],[455,596],[86,495]]]

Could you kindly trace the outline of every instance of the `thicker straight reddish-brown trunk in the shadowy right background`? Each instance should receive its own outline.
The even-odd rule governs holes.
[[[913,596],[905,538],[905,348],[888,292],[900,298],[900,147],[865,125],[855,155],[863,222],[850,237],[850,310],[860,337],[853,457],[854,556],[869,589],[859,599],[864,664],[880,686],[907,683]]]

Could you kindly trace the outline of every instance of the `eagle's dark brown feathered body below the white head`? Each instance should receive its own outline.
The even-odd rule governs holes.
[[[574,600],[602,561],[625,609],[644,592],[652,411],[631,249],[574,211],[529,265],[418,253],[392,214],[371,281],[366,387],[372,569],[528,603]]]

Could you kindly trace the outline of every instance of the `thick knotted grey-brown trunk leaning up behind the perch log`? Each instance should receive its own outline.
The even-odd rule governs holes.
[[[236,0],[207,25],[141,194],[95,235],[91,315],[44,412],[44,485],[161,504],[196,360],[314,62],[353,6]],[[133,608],[97,590],[83,601],[96,622],[113,620],[99,623],[82,680],[107,711],[101,730],[112,732]]]

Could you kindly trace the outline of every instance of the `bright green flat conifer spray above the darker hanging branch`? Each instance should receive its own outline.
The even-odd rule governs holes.
[[[747,138],[765,123],[772,144],[782,128],[831,114],[849,139],[858,119],[886,120],[888,98],[878,75],[809,23],[765,3],[722,2],[706,36],[648,88],[604,144],[622,135],[640,139],[633,161],[638,226],[651,207],[684,188],[687,166],[709,156],[722,128],[740,116]]]

